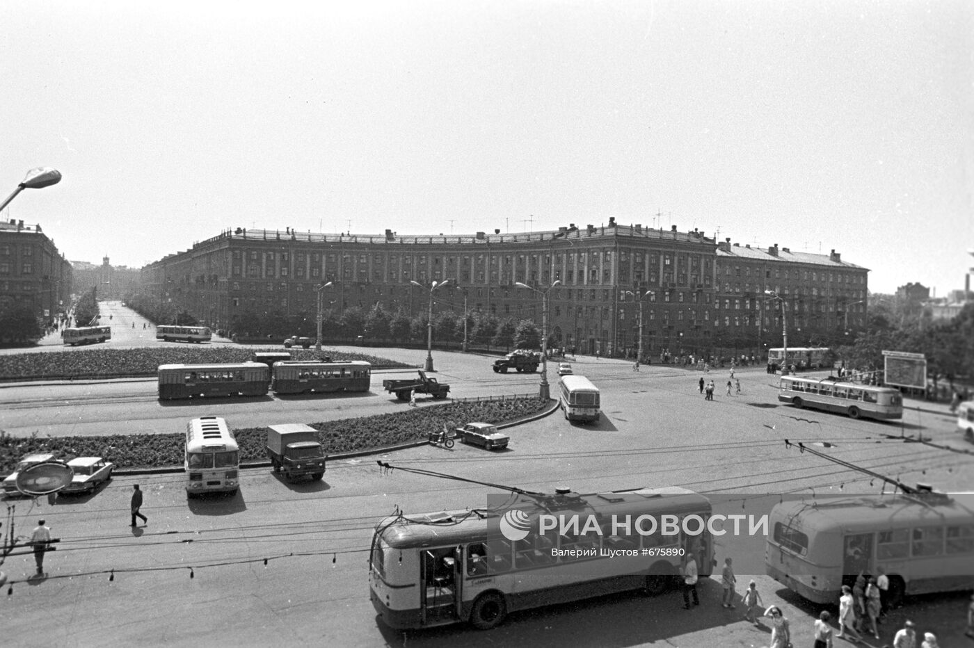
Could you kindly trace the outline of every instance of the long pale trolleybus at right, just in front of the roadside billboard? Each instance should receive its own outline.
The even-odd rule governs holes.
[[[781,378],[778,400],[795,407],[848,414],[852,418],[903,418],[903,396],[892,387],[836,378]]]

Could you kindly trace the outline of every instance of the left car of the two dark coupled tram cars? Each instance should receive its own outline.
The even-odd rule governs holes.
[[[257,362],[214,365],[160,365],[159,399],[205,396],[264,396],[271,368]]]

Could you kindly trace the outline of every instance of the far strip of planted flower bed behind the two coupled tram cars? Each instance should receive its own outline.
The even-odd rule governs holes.
[[[151,348],[92,348],[48,353],[15,353],[3,356],[0,379],[78,378],[114,376],[155,376],[160,365],[245,362],[255,351],[281,351],[274,348],[237,346],[172,346]],[[365,360],[374,368],[402,367],[388,358],[334,349],[292,349],[296,360],[317,360],[327,355],[333,361]]]

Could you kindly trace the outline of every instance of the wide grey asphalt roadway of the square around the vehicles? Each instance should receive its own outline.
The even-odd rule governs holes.
[[[412,358],[415,364],[425,356],[415,350],[382,349],[382,354]],[[445,352],[433,356],[437,378],[455,384],[457,396],[480,389],[514,393],[537,388],[537,375],[494,375],[489,358]],[[511,445],[503,453],[464,445],[453,450],[401,450],[332,462],[318,484],[288,485],[269,469],[249,470],[233,498],[187,501],[179,476],[163,475],[118,477],[92,496],[60,497],[53,506],[45,498],[8,500],[8,505],[16,504],[16,535],[29,534],[43,516],[62,541],[47,558],[49,575],[44,579],[24,580],[32,572],[31,556],[7,558],[2,568],[14,585],[13,594],[0,603],[3,643],[761,646],[768,644],[768,631],[742,622],[739,607],[721,608],[720,584],[712,579],[699,588],[701,606],[689,612],[682,609],[677,593],[655,598],[621,594],[515,614],[487,632],[466,627],[408,633],[385,629],[368,599],[365,552],[374,523],[395,507],[419,513],[481,506],[491,490],[401,471],[385,474],[374,460],[536,490],[685,486],[715,500],[726,496],[724,505],[735,510],[759,506],[768,499],[762,493],[879,492],[880,486],[871,485],[868,477],[786,448],[788,438],[806,444],[827,442],[829,448],[816,448],[905,483],[926,482],[947,490],[968,490],[974,483],[974,456],[895,438],[922,434],[963,449],[946,411],[911,410],[902,424],[796,411],[777,404],[774,379],[762,369],[737,373],[740,396],[728,397],[719,389],[715,401],[706,402],[697,393],[695,372],[654,366],[636,374],[629,363],[594,358],[574,364],[577,373],[603,391],[602,421],[577,425],[560,414],[548,416],[508,430]],[[726,373],[714,376],[718,384],[726,381]],[[551,378],[555,379],[553,372]],[[71,388],[80,391],[63,385],[0,390],[4,426],[13,412],[27,420],[18,430],[33,420],[57,429],[124,426],[130,421],[149,428],[153,421],[162,421],[159,424],[172,431],[169,425],[181,426],[186,418],[204,412],[226,414],[232,424],[243,426],[250,417],[264,417],[264,424],[285,422],[267,417],[294,410],[295,405],[306,407],[305,401],[268,400],[250,406],[235,400],[168,408],[153,402],[151,382]],[[115,389],[130,394],[130,400],[109,411]],[[55,406],[56,398],[71,403]],[[19,402],[31,399],[32,411],[17,409]],[[352,415],[353,409],[364,414],[372,407],[404,406],[385,394],[372,394],[315,398],[307,407],[318,416],[300,422]],[[96,414],[99,410],[104,414]],[[305,412],[293,413],[300,417]],[[92,420],[75,422],[72,416]],[[136,481],[145,491],[143,512],[149,522],[132,531],[128,503]],[[718,560],[735,558],[739,584],[754,575],[765,603],[781,605],[792,620],[795,644],[810,645],[819,608],[763,575],[760,542],[735,542],[718,542]],[[269,558],[266,566],[264,558]],[[936,631],[941,645],[962,645],[967,602],[966,594],[923,597],[889,621],[896,624],[910,615],[919,630]],[[885,642],[891,640],[890,624],[882,630]]]

